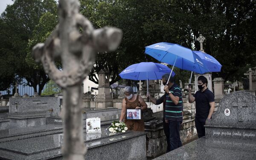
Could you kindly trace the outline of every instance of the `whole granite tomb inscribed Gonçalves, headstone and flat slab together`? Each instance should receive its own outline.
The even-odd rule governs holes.
[[[205,137],[155,160],[256,160],[256,96],[226,95],[205,127]]]

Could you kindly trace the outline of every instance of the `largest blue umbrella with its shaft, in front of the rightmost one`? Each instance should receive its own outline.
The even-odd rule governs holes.
[[[190,70],[201,74],[209,72],[203,60],[197,54],[181,45],[160,42],[145,47],[145,53],[160,62],[172,65],[172,70],[175,66],[182,70]],[[169,82],[169,79],[167,82]]]

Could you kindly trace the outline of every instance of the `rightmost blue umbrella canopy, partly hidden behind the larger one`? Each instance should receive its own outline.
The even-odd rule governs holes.
[[[210,72],[220,72],[222,65],[211,55],[204,53],[202,51],[193,51],[198,55],[207,66]]]

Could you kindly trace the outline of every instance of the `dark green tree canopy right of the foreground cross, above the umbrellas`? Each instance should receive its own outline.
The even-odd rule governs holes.
[[[204,50],[222,65],[221,73],[213,73],[226,81],[241,79],[248,66],[255,66],[256,1],[248,0],[81,0],[81,13],[96,28],[116,26],[123,31],[119,49],[97,55],[92,74],[101,67],[118,67],[144,62],[144,47],[157,42],[171,42],[199,50],[196,38],[206,37]],[[114,58],[113,58],[114,57]],[[147,56],[148,61],[156,62]],[[109,60],[110,59],[110,60]],[[113,60],[113,61],[112,61]],[[104,63],[102,63],[104,62]],[[187,81],[189,72],[176,69]],[[117,73],[116,73],[117,75]],[[116,76],[112,73],[112,76]],[[117,76],[118,77],[118,76]],[[90,76],[92,79],[92,76]],[[118,78],[117,78],[118,79]]]

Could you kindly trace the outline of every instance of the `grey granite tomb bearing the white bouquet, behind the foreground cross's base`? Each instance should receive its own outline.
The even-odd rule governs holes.
[[[87,146],[85,159],[146,160],[145,132],[128,131],[113,134],[102,128],[101,134],[90,134],[84,130],[84,143]],[[60,160],[63,134],[53,134],[0,143],[0,159],[12,160]],[[116,154],[117,150],[120,154]]]

